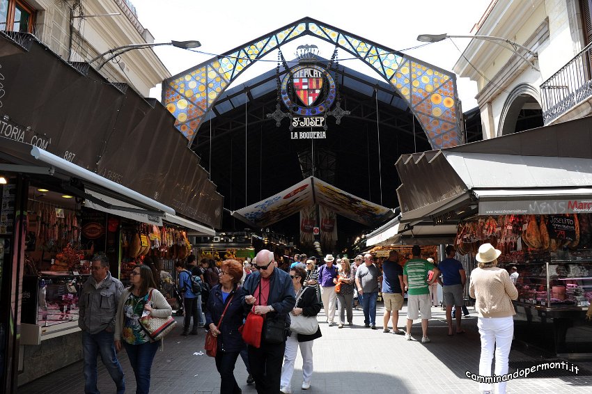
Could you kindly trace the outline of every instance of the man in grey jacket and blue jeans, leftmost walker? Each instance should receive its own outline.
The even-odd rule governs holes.
[[[78,326],[82,330],[84,355],[84,393],[99,394],[97,388],[97,356],[117,386],[117,394],[125,393],[123,370],[114,346],[117,301],[123,292],[121,282],[111,276],[109,260],[96,255],[91,261],[91,276],[84,283],[79,297]]]

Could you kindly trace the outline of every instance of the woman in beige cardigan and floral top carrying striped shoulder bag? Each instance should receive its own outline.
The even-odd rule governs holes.
[[[132,285],[121,294],[115,320],[115,348],[123,347],[130,358],[136,377],[136,394],[150,392],[150,369],[159,344],[153,341],[140,324],[144,313],[166,319],[173,310],[166,298],[156,290],[152,270],[147,265],[134,268],[130,276]]]

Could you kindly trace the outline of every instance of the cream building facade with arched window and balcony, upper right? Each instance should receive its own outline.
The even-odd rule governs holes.
[[[588,116],[589,0],[494,0],[453,70],[477,82],[483,139]]]

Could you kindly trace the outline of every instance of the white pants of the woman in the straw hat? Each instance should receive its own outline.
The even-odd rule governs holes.
[[[508,317],[479,317],[477,327],[481,335],[481,359],[479,375],[491,376],[491,361],[495,349],[495,370],[497,376],[508,373],[508,358],[514,336],[514,319]],[[495,384],[496,394],[506,394],[506,381]],[[491,384],[479,383],[479,390],[491,390]]]

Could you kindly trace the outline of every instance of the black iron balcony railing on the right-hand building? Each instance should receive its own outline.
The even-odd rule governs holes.
[[[592,43],[540,85],[543,123],[551,123],[592,97]]]

